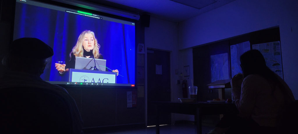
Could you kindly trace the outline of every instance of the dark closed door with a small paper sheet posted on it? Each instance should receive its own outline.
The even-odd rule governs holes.
[[[147,49],[147,124],[156,125],[156,106],[151,101],[171,101],[170,52]],[[162,112],[159,124],[170,124],[171,114]]]

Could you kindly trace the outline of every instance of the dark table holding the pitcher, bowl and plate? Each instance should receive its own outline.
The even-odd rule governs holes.
[[[170,113],[181,113],[195,115],[197,121],[197,133],[202,134],[202,115],[212,114],[226,114],[237,113],[238,110],[234,103],[209,103],[209,102],[196,102],[196,103],[181,103],[181,102],[152,102],[157,106],[156,113],[156,134],[159,134],[159,112],[165,111]]]

